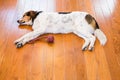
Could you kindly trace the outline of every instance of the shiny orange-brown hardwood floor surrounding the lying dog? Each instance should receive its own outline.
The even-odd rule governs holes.
[[[87,11],[108,42],[82,51],[84,40],[74,34],[51,34],[44,41],[17,49],[14,41],[31,31],[18,26],[26,10]],[[0,0],[0,80],[120,80],[120,0]],[[47,34],[49,35],[49,34]]]

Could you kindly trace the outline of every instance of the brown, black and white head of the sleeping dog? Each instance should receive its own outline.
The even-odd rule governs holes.
[[[42,12],[42,11],[40,11]],[[17,22],[20,25],[32,25],[34,19],[36,18],[36,16],[40,13],[37,11],[28,11],[26,12],[23,17],[19,20],[17,20]]]

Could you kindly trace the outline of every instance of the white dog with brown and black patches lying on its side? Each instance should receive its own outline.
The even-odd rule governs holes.
[[[21,48],[30,40],[46,33],[74,33],[85,40],[82,50],[92,51],[96,37],[101,45],[105,45],[107,38],[100,30],[95,18],[87,12],[43,12],[28,11],[17,21],[20,25],[32,25],[32,32],[27,33],[15,41],[17,48]],[[89,47],[88,47],[89,46]]]

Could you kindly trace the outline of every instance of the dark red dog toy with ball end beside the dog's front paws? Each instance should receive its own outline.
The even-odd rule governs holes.
[[[38,40],[41,40],[41,39],[44,39],[48,42],[48,43],[54,43],[54,37],[53,36],[43,36],[43,37],[37,37],[31,41],[29,41],[28,43],[32,44],[34,43],[35,41],[38,41]]]

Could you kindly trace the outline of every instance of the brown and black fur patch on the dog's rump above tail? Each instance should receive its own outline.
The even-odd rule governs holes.
[[[85,16],[85,20],[88,22],[88,24],[92,25],[94,29],[99,29],[96,20],[90,14]]]

